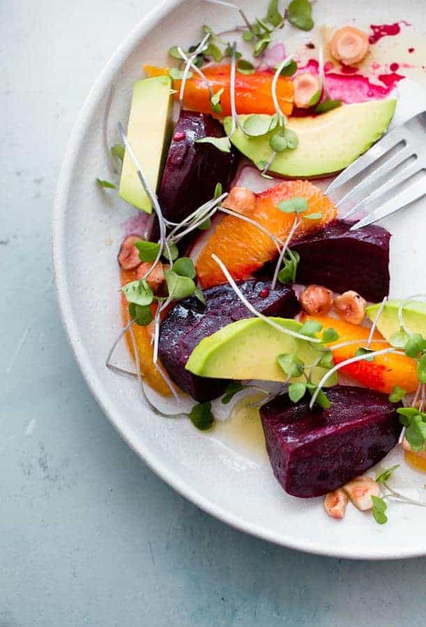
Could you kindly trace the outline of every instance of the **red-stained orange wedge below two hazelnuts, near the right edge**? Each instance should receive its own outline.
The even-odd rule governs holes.
[[[340,339],[328,345],[333,352],[335,364],[340,364],[345,359],[355,357],[356,350],[361,346],[365,346],[370,334],[370,330],[366,327],[351,325],[344,322],[344,320],[337,320],[330,316],[307,316],[302,314],[301,320],[302,322],[305,322],[305,320],[317,320],[324,328],[333,327],[337,331]],[[379,332],[374,332],[373,338],[382,340],[383,336]],[[356,339],[361,340],[359,344],[343,346],[333,350],[335,344]],[[371,348],[373,350],[382,350],[383,348],[390,348],[390,344],[373,341]],[[376,389],[379,392],[387,392],[388,394],[392,392],[395,385],[399,385],[406,392],[414,392],[418,385],[416,362],[411,357],[406,357],[405,355],[380,355],[379,357],[374,357],[374,362],[363,360],[344,366],[342,372],[356,379],[365,387]]]

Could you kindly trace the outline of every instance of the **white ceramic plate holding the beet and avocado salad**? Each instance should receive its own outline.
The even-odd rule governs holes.
[[[405,2],[399,10],[400,2],[393,0],[376,1],[374,6],[367,0],[318,0],[314,17],[317,24],[330,25],[363,13],[373,24],[402,19],[420,23],[420,4]],[[252,17],[264,15],[266,0],[240,5]],[[109,86],[116,85],[109,128],[112,144],[119,141],[116,121],[127,120],[132,84],[142,76],[142,63],[165,65],[168,47],[197,40],[201,24],[220,31],[234,26],[237,19],[231,10],[201,1],[164,2],[135,27],[93,86],[70,137],[56,194],[54,265],[63,324],[84,378],[112,424],[162,479],[208,513],[261,538],[324,555],[366,559],[425,555],[426,509],[393,505],[390,522],[379,526],[351,507],[344,521],[333,521],[326,517],[322,499],[298,500],[280,488],[258,425],[244,433],[235,425],[222,424],[206,434],[188,419],[160,418],[144,405],[135,382],[105,369],[105,355],[121,329],[116,294],[120,224],[133,212],[116,194],[94,184],[97,176],[109,177],[102,146]],[[283,33],[293,36],[290,29]],[[296,37],[307,38],[300,32]],[[417,270],[425,268],[425,219],[425,207],[416,206],[406,212],[403,224],[402,215],[386,222],[394,233],[393,296],[424,291],[424,271]],[[130,366],[124,346],[116,361]]]

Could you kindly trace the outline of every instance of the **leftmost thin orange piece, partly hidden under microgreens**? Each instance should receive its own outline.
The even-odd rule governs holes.
[[[136,270],[122,270],[121,271],[121,285],[125,285],[130,281],[135,281],[136,279]],[[155,314],[156,305],[151,306],[153,316]],[[128,302],[125,300],[123,293],[121,294],[121,311],[123,315],[123,323],[127,325],[130,320],[129,310],[128,310]],[[162,378],[158,370],[155,368],[153,364],[153,346],[151,345],[151,332],[152,325],[147,325],[146,327],[141,327],[139,325],[133,325],[133,332],[135,334],[135,341],[137,346],[137,352],[139,353],[139,362],[141,364],[141,371],[146,379],[146,382],[159,392],[163,396],[171,396],[172,392],[170,392],[169,386]],[[125,341],[127,342],[128,349],[130,350],[130,354],[133,359],[135,355],[133,353],[133,344],[132,339],[130,337],[130,333],[125,334]]]

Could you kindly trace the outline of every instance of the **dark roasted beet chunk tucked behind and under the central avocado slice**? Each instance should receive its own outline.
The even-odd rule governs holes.
[[[271,282],[251,279],[239,283],[245,297],[266,316],[293,318],[300,310],[294,291]],[[261,296],[268,288],[268,295]],[[241,318],[252,318],[247,307],[228,284],[204,292],[206,307],[196,298],[187,298],[174,305],[160,326],[159,356],[174,382],[196,401],[211,401],[225,391],[229,381],[199,377],[185,370],[185,364],[195,346],[225,325]]]

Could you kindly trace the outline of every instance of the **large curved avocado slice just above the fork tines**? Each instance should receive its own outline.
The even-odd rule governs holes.
[[[290,178],[314,178],[343,170],[365,153],[386,131],[395,111],[396,100],[370,100],[341,107],[319,116],[290,118],[288,128],[298,136],[295,150],[284,150],[269,170]],[[242,124],[248,116],[239,116]],[[231,131],[231,118],[225,118],[225,131]],[[271,158],[269,138],[246,137],[236,129],[231,142],[259,168]]]

